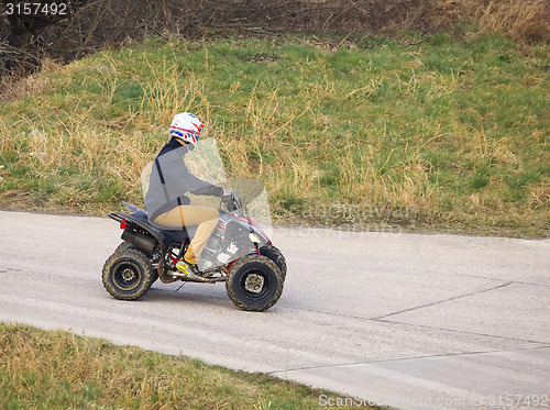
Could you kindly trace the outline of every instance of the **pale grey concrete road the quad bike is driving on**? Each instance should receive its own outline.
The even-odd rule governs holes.
[[[0,212],[0,320],[271,373],[358,407],[550,407],[549,240],[279,229],[288,276],[264,313],[237,309],[223,284],[118,301],[100,274],[119,242],[109,219]]]

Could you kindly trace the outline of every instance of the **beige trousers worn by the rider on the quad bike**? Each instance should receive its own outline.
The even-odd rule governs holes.
[[[199,225],[185,253],[185,261],[197,264],[202,250],[218,224],[218,207],[207,201],[193,200],[188,206],[176,207],[162,213],[155,222],[165,226]]]

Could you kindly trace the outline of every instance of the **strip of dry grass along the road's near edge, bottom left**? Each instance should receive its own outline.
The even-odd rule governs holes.
[[[341,398],[263,374],[0,322],[6,410],[317,409],[320,395]]]

